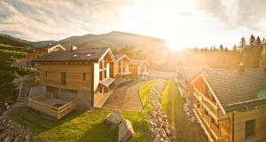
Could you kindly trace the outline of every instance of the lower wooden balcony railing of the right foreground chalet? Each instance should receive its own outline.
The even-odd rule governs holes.
[[[205,131],[207,138],[210,142],[229,142],[228,137],[220,135],[219,130],[215,127],[215,124],[210,122],[209,117],[205,114],[201,115],[200,109],[193,108],[193,112],[200,122],[201,127]]]

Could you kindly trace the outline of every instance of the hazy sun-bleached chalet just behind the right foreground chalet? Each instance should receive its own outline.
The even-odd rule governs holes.
[[[176,68],[176,83],[178,84],[178,91],[182,98],[191,98],[193,87],[192,79],[200,74],[203,67],[177,67]]]

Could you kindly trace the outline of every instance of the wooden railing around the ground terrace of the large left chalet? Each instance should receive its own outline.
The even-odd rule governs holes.
[[[44,104],[38,100],[45,99],[44,95],[35,96],[33,98],[28,99],[27,106],[40,111],[44,114],[49,114],[57,119],[64,117],[66,114],[70,113],[77,106],[77,100],[71,100],[66,103],[64,106],[56,107]]]

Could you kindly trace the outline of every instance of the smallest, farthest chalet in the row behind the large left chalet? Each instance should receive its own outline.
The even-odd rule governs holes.
[[[134,59],[129,63],[129,72],[133,78],[138,78],[140,75],[148,75],[147,72],[147,61]]]

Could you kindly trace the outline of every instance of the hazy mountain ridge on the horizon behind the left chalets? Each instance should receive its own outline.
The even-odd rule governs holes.
[[[113,31],[100,35],[88,34],[84,36],[70,36],[59,41],[50,40],[39,42],[31,42],[13,36],[0,35],[0,43],[20,47],[37,47],[48,43],[61,43],[66,49],[70,49],[70,43],[73,43],[79,48],[110,47],[112,49],[123,49],[134,47],[134,49],[151,49],[159,46],[163,41],[151,36],[140,36],[131,33]]]

